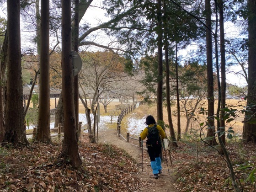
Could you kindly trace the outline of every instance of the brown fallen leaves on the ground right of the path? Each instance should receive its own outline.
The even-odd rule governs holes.
[[[175,183],[175,188],[181,192],[187,191],[235,191],[232,181],[229,177],[229,169],[226,162],[221,158],[221,156],[215,151],[207,148],[204,144],[200,144],[198,151],[193,150],[192,143],[180,143],[179,148],[176,149],[175,153],[172,153],[174,159],[173,168],[176,168],[176,176],[178,176],[177,182]],[[227,144],[228,151],[230,152],[229,158],[233,161],[240,161],[240,155],[235,145]],[[198,161],[195,159],[198,153]],[[248,161],[251,159],[256,160],[255,145],[247,145],[244,148],[243,153],[247,155],[247,158],[243,161]],[[235,166],[235,163],[234,163]],[[233,167],[234,167],[233,166]],[[237,183],[240,186],[239,180],[243,187],[243,191],[251,192],[255,191],[256,183],[247,182],[245,178],[248,176],[248,172],[241,170],[235,170],[237,176]]]

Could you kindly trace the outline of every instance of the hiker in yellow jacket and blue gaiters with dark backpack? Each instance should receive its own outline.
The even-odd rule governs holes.
[[[155,118],[152,115],[146,117],[145,124],[148,127],[144,128],[143,132],[140,133],[142,140],[147,139],[147,148],[150,158],[150,165],[153,170],[155,179],[158,178],[158,174],[162,173],[160,153],[162,150],[161,138],[165,138],[165,131],[161,128],[160,125],[157,125]]]

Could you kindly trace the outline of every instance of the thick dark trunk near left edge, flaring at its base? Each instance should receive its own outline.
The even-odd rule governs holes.
[[[20,0],[7,0],[7,90],[4,144],[28,144],[24,125],[21,80]]]

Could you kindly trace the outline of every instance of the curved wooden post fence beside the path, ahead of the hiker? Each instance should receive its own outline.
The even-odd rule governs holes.
[[[138,145],[133,144],[133,142],[132,142],[132,144],[135,146],[138,146],[138,147],[142,147],[142,142],[141,142],[142,140],[141,140],[140,136],[139,136],[139,138],[134,138],[134,137],[130,136],[130,133],[126,133],[126,136],[123,136],[121,134],[121,122],[123,120],[123,117],[125,117],[128,113],[132,112],[136,106],[139,106],[141,104],[143,104],[143,101],[140,101],[139,103],[137,103],[133,106],[126,107],[125,109],[123,109],[123,111],[121,111],[121,114],[117,117],[117,136],[122,138],[123,140],[125,140],[128,143],[130,142],[130,139],[135,140]],[[146,141],[143,141],[143,143],[146,143]],[[147,149],[147,148],[145,148],[145,149]]]

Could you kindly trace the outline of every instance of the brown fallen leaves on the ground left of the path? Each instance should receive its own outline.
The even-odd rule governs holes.
[[[83,171],[57,163],[61,143],[31,143],[0,153],[0,189],[5,191],[138,191],[137,164],[123,150],[80,139]],[[50,153],[49,153],[50,152]]]

